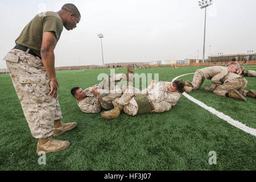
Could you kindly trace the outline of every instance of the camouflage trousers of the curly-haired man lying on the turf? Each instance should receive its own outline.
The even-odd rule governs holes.
[[[112,103],[114,106],[117,106],[118,104],[124,106],[123,111],[126,114],[136,115],[139,107],[134,97],[140,96],[140,95],[141,95],[141,90],[134,88],[132,86],[129,86],[125,90],[125,93],[123,93],[122,97],[115,98],[115,100],[113,100]]]

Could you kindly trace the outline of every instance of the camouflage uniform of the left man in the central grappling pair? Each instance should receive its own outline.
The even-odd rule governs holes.
[[[86,98],[81,101],[77,101],[77,105],[81,109],[81,111],[85,113],[100,113],[101,107],[104,109],[113,109],[112,101],[115,98],[119,98],[122,96],[123,89],[125,87],[122,86],[113,86],[116,81],[126,80],[126,75],[122,73],[110,75],[109,80],[103,80],[100,84],[96,84],[92,87],[86,88],[84,90],[86,94]],[[109,81],[113,84],[110,84],[111,90],[109,90]],[[98,93],[100,93],[100,97],[96,98],[95,93],[91,93],[90,90],[97,86]]]

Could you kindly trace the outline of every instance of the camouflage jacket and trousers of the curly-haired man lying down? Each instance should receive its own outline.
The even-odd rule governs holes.
[[[113,101],[113,105],[118,104],[124,106],[123,111],[129,115],[136,115],[138,112],[138,104],[134,97],[139,95],[146,96],[147,100],[152,103],[154,110],[152,113],[163,113],[168,111],[172,106],[175,106],[179,98],[182,96],[180,93],[170,92],[167,90],[166,85],[171,82],[160,81],[155,84],[154,88],[148,86],[144,90],[139,90],[133,87],[129,87],[121,98],[117,98]]]

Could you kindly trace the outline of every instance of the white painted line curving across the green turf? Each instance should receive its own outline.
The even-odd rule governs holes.
[[[188,73],[185,75],[191,75],[194,73]],[[185,76],[185,75],[181,75],[181,76]],[[177,76],[176,78],[174,78],[174,80],[176,80],[177,78],[181,77],[181,76]],[[172,80],[172,81],[174,81]],[[251,135],[254,135],[256,137],[256,129],[253,129],[251,127],[246,126],[245,124],[236,121],[234,119],[232,119],[231,117],[229,117],[228,115],[225,115],[223,113],[221,113],[220,111],[217,111],[216,109],[209,107],[207,105],[205,105],[203,102],[196,100],[195,98],[193,98],[192,96],[189,96],[187,93],[183,93],[183,96],[187,97],[189,100],[191,100],[192,102],[195,102],[197,105],[203,107],[204,109],[208,110],[210,113],[217,115],[217,117],[224,119],[226,122],[228,122],[230,125],[237,127],[240,130],[245,131],[246,133],[249,133]]]

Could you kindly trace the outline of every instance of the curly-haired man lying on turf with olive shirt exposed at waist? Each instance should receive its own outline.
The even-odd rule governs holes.
[[[118,118],[121,110],[126,114],[136,115],[145,113],[163,113],[175,106],[183,93],[185,82],[175,80],[173,82],[160,81],[144,90],[130,86],[122,97],[116,98],[112,103],[114,109],[101,113],[107,119]]]

